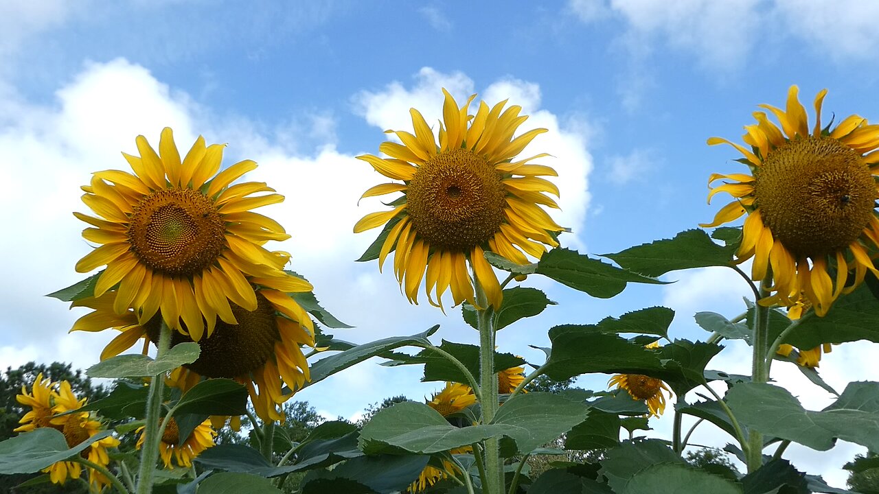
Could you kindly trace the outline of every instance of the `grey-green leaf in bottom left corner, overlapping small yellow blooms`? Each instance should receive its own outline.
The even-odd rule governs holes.
[[[68,447],[64,434],[50,427],[18,434],[14,438],[0,441],[0,474],[38,472],[56,461],[67,460],[79,454],[86,447],[90,447],[91,443],[102,440],[112,433],[112,431],[98,432],[75,447]]]

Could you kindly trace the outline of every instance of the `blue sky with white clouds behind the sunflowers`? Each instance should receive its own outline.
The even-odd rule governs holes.
[[[339,338],[365,342],[440,323],[441,338],[475,343],[457,311],[410,306],[389,272],[352,262],[377,233],[351,233],[379,207],[358,207],[357,198],[381,181],[353,156],[376,153],[386,128],[409,129],[410,106],[435,121],[440,87],[459,100],[478,92],[490,104],[522,105],[532,114],[523,130],[549,129],[529,149],[556,156],[544,163],[561,175],[556,219],[574,230],[565,244],[620,251],[710,220],[723,201],[705,204],[708,175],[742,170],[733,149],[708,148],[706,139],[737,140],[756,105],[783,105],[790,84],[800,85],[807,107],[828,88],[825,115],[879,119],[877,14],[879,6],[854,0],[4,2],[0,367],[88,367],[112,336],[68,335],[81,313],[41,295],[81,278],[73,265],[90,246],[70,214],[86,211],[78,186],[92,171],[125,169],[120,151],[133,152],[137,134],[156,143],[171,126],[180,148],[204,134],[229,143],[224,163],[260,163],[248,178],[287,196],[264,211],[293,236],[276,248],[291,251],[293,269],[324,305],[357,326],[336,331]],[[678,312],[675,338],[704,338],[693,313],[734,316],[747,293],[723,271],[667,278],[678,281],[629,287],[610,301],[528,280],[561,305],[503,331],[500,348],[539,362],[527,345],[546,345],[554,324],[658,304]],[[746,373],[745,353],[733,345],[711,367]],[[822,372],[842,389],[875,380],[868,362],[877,358],[877,345],[843,345]],[[807,407],[829,403],[788,367],[777,366],[775,377]],[[367,362],[297,397],[352,417],[386,396],[418,399],[438,388],[418,378],[414,369]],[[671,429],[670,416],[658,433]],[[722,445],[722,435],[705,427],[695,437]],[[788,451],[801,468],[841,485],[839,467],[860,449]]]

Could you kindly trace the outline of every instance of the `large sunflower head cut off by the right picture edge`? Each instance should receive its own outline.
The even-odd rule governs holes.
[[[716,227],[748,214],[740,261],[753,258],[752,279],[766,278],[771,266],[772,295],[762,304],[790,306],[804,294],[818,316],[824,316],[839,294],[857,287],[869,269],[876,272],[868,250],[879,244],[875,175],[879,174],[879,126],[851,115],[831,129],[821,127],[821,105],[827,90],[815,98],[815,125],[791,86],[785,110],[760,105],[772,112],[781,129],[766,113],[753,113],[757,123],[745,126],[744,146],[712,137],[709,145],[726,142],[738,149],[751,174],[712,174],[710,185],[721,178],[731,182],[715,187],[735,201],[723,207]],[[854,268],[854,278],[848,272]],[[846,286],[847,283],[847,286]]]

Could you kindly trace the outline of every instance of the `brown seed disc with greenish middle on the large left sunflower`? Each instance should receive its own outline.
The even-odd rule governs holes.
[[[191,276],[226,248],[214,201],[193,189],[166,189],[144,197],[128,227],[131,250],[143,264],[170,276]]]

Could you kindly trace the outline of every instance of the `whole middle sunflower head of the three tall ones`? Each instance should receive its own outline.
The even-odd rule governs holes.
[[[541,178],[556,176],[556,171],[529,163],[548,155],[512,161],[546,129],[535,128],[514,138],[527,119],[519,115],[520,106],[504,110],[506,101],[502,101],[489,108],[483,101],[476,116],[470,116],[469,105],[476,95],[458,107],[448,91],[443,93],[439,145],[424,117],[412,108],[414,135],[396,131],[403,144],[382,142],[379,150],[387,158],[358,156],[385,177],[403,182],[375,185],[362,197],[397,192],[403,196],[393,201],[393,210],[364,216],[354,232],[387,223],[379,269],[389,252],[396,250],[394,272],[409,301],[418,303],[418,287],[426,272],[425,293],[432,305],[441,307],[442,294],[449,288],[455,305],[465,300],[475,304],[473,283],[478,281],[489,304],[497,308],[501,288],[483,252],[525,265],[529,262],[525,253],[541,258],[546,245],[558,245],[555,234],[563,229],[540,206],[558,207],[544,195],[557,196],[558,188]],[[476,280],[470,278],[468,261]]]

